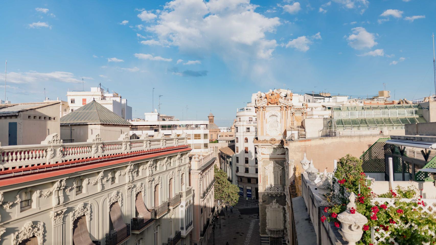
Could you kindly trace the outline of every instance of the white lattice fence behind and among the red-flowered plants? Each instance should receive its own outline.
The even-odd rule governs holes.
[[[393,198],[374,198],[371,200],[372,204],[375,204],[376,202],[380,204],[385,204],[388,207],[394,207],[397,208],[395,205],[395,199]],[[409,198],[402,198],[401,201],[403,202],[418,202],[418,201],[424,201],[425,206],[420,207],[421,212],[427,212],[427,213],[433,213],[436,214],[436,199],[420,199],[417,198],[409,199]],[[433,239],[436,239],[436,233],[435,231],[432,231],[428,228],[428,226],[419,227],[419,224],[414,224],[412,222],[400,223],[397,222],[395,224],[389,224],[389,227],[394,228],[406,228],[406,229],[413,229],[416,232],[419,232],[422,235],[431,235],[433,236]],[[391,236],[392,229],[391,230],[383,230],[383,227],[380,226],[373,226],[371,227],[371,242],[374,245],[379,244],[380,242],[390,243],[394,245],[399,245],[395,239],[396,237]],[[429,244],[429,243],[428,243]],[[428,245],[424,244],[424,245]]]

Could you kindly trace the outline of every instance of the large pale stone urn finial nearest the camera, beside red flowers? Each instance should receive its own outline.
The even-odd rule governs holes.
[[[368,219],[356,211],[356,195],[354,195],[354,192],[351,192],[349,200],[347,209],[337,215],[337,220],[342,224],[341,231],[344,240],[348,242],[348,245],[355,245],[362,238],[362,227],[368,223]]]

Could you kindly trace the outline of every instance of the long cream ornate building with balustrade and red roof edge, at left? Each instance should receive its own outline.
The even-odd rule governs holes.
[[[1,147],[0,243],[189,244],[186,140],[94,134],[63,144],[51,134],[39,145]]]

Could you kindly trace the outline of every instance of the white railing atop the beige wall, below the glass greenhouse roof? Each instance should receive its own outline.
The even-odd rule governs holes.
[[[320,130],[310,132],[299,132],[297,136],[292,134],[291,139],[293,141],[318,139],[318,138],[330,138],[330,137],[356,137],[356,136],[380,136],[388,135],[387,128],[373,128],[368,130]]]

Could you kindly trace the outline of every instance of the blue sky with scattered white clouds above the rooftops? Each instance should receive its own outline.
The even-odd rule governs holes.
[[[434,0],[3,1],[13,103],[102,83],[133,107],[229,126],[257,91],[434,91]],[[433,24],[433,25],[432,25]],[[4,62],[4,61],[3,61]],[[0,75],[4,81],[4,74]],[[283,85],[286,84],[286,85]],[[3,86],[0,88],[3,99]],[[184,112],[186,118],[186,112]]]

